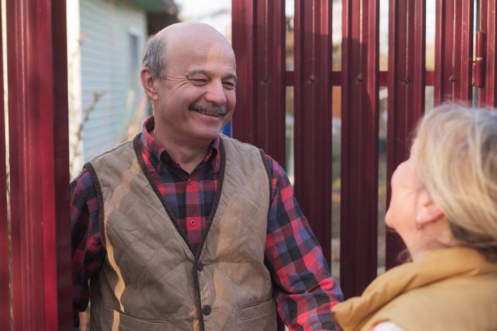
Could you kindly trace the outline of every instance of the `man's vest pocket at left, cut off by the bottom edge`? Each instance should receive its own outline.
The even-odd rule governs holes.
[[[167,331],[167,322],[141,320],[105,307],[105,327],[102,330],[119,331]],[[114,329],[116,328],[116,329]]]

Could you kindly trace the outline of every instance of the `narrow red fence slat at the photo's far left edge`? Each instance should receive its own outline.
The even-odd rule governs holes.
[[[0,7],[0,26],[1,26]],[[0,34],[0,63],[3,63],[2,35]],[[3,66],[0,66],[0,91],[3,91]],[[3,93],[0,93],[0,330],[10,330],[10,293],[8,266],[7,173],[5,165],[5,118]]]

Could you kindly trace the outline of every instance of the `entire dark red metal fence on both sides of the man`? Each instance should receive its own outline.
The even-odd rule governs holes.
[[[360,294],[377,272],[379,87],[388,86],[389,92],[388,178],[404,160],[409,132],[424,112],[425,86],[434,86],[439,104],[471,102],[473,85],[478,85],[476,103],[497,106],[494,0],[479,0],[476,12],[474,0],[436,0],[436,61],[431,72],[425,69],[425,0],[389,1],[389,66],[380,71],[379,3],[342,1],[342,69],[332,71],[332,1],[295,0],[295,70],[287,71],[285,1],[233,0],[233,47],[240,76],[234,135],[285,164],[285,90],[294,87],[295,194],[327,257],[331,88],[341,86],[340,280],[345,297]],[[9,330],[12,321],[13,330],[68,330],[72,304],[65,2],[6,1],[5,10],[11,274],[6,173],[0,167],[0,329]],[[6,156],[4,122],[2,111],[0,162]],[[398,237],[387,235],[387,267],[396,264],[401,249]]]

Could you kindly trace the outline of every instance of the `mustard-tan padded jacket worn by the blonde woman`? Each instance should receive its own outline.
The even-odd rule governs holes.
[[[497,330],[497,264],[469,248],[436,250],[376,278],[362,296],[336,305],[344,331],[392,321],[406,331]]]

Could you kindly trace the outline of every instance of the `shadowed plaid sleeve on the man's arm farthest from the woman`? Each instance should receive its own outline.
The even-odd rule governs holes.
[[[98,200],[90,174],[83,169],[71,183],[71,245],[73,267],[73,323],[79,328],[79,312],[89,300],[88,280],[102,265]]]

